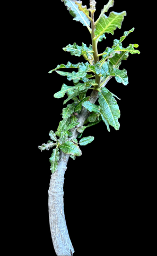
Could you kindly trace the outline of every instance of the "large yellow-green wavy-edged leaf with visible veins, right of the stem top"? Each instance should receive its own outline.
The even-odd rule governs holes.
[[[104,14],[95,26],[94,39],[98,39],[104,33],[111,33],[114,35],[114,30],[116,28],[121,28],[124,16],[126,16],[126,11],[120,13],[110,12],[109,17]]]

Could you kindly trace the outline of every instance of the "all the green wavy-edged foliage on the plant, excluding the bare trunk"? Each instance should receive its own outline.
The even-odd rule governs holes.
[[[92,22],[91,14],[95,11],[94,7],[90,6],[91,9],[87,9],[86,6],[82,6],[82,1],[66,1],[62,0],[69,13],[74,17],[73,20],[79,21],[86,26],[91,33],[90,24]],[[109,0],[107,5],[104,5],[101,14],[97,21],[94,22],[94,37],[93,41],[101,42],[102,39],[106,39],[106,33],[111,33],[114,35],[114,30],[116,28],[121,28],[121,23],[124,20],[126,12],[121,13],[111,12],[107,17],[105,12],[108,11],[110,7],[114,5],[114,1]],[[73,81],[73,86],[68,86],[63,84],[61,89],[54,94],[54,97],[59,99],[65,97],[63,104],[66,104],[69,100],[73,100],[73,103],[68,104],[62,111],[62,121],[59,122],[57,131],[50,131],[50,139],[47,144],[42,144],[38,148],[42,150],[53,149],[53,153],[50,157],[50,170],[55,172],[57,170],[59,161],[59,151],[62,150],[64,153],[69,154],[73,159],[76,156],[81,156],[82,151],[79,145],[87,145],[91,143],[94,137],[82,137],[83,131],[92,125],[103,122],[107,130],[110,131],[110,125],[119,130],[120,124],[118,118],[120,117],[120,110],[115,98],[118,98],[114,93],[111,93],[104,85],[109,77],[115,77],[118,83],[124,85],[128,84],[127,71],[125,69],[120,70],[122,60],[127,60],[129,53],[135,54],[140,53],[137,48],[137,44],[129,44],[128,47],[124,48],[122,42],[124,39],[134,31],[134,28],[129,31],[125,31],[124,35],[120,39],[115,39],[113,46],[107,47],[104,52],[98,55],[101,60],[94,63],[94,51],[92,45],[86,46],[82,43],[81,46],[76,43],[68,44],[63,48],[64,51],[71,53],[80,57],[83,55],[86,60],[85,63],[79,62],[77,64],[72,64],[67,62],[67,64],[60,64],[49,73],[56,71],[61,76],[66,76],[68,81]],[[58,69],[76,69],[76,71],[67,72]],[[95,77],[100,77],[100,84],[95,83]],[[98,90],[98,103],[91,103],[90,97],[86,96],[88,90]],[[118,98],[119,99],[119,98]],[[77,116],[81,113],[82,108],[86,108],[89,111],[89,116],[84,122],[83,126],[77,122]],[[72,131],[77,129],[79,135],[77,139],[72,139]],[[57,137],[59,137],[57,139]]]

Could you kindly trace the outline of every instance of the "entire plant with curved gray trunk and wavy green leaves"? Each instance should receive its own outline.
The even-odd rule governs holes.
[[[60,64],[49,71],[49,73],[56,71],[74,83],[73,86],[63,84],[60,91],[54,94],[55,98],[63,98],[67,94],[67,99],[63,104],[71,99],[73,103],[63,108],[63,119],[59,122],[57,131],[49,132],[51,140],[38,147],[41,151],[54,147],[50,157],[52,174],[48,190],[48,206],[51,237],[55,252],[59,256],[73,255],[74,253],[66,226],[63,203],[64,174],[68,159],[72,157],[75,160],[76,156],[81,156],[80,146],[87,145],[94,140],[92,136],[82,137],[86,128],[103,122],[108,131],[110,131],[110,125],[119,130],[120,110],[115,99],[118,97],[106,88],[106,84],[112,77],[115,77],[118,83],[127,85],[127,71],[120,69],[121,61],[127,60],[129,53],[140,53],[135,50],[138,47],[137,44],[129,44],[126,48],[122,45],[124,39],[134,31],[134,28],[125,31],[120,39],[115,39],[112,48],[107,47],[104,52],[98,53],[98,42],[106,39],[106,34],[114,35],[114,30],[121,28],[121,23],[126,16],[125,11],[110,12],[108,16],[105,14],[114,5],[113,0],[109,0],[104,5],[96,21],[94,21],[94,12],[96,11],[94,0],[90,0],[90,9],[83,6],[82,1],[61,1],[74,17],[73,20],[80,21],[83,26],[88,28],[92,44],[89,47],[85,43],[80,46],[76,43],[68,44],[63,50],[78,57],[83,55],[86,62],[77,64],[67,62],[67,64]],[[58,70],[62,68],[74,68],[76,71]],[[92,90],[90,96],[86,96],[88,90]],[[95,104],[97,100],[98,102]]]

